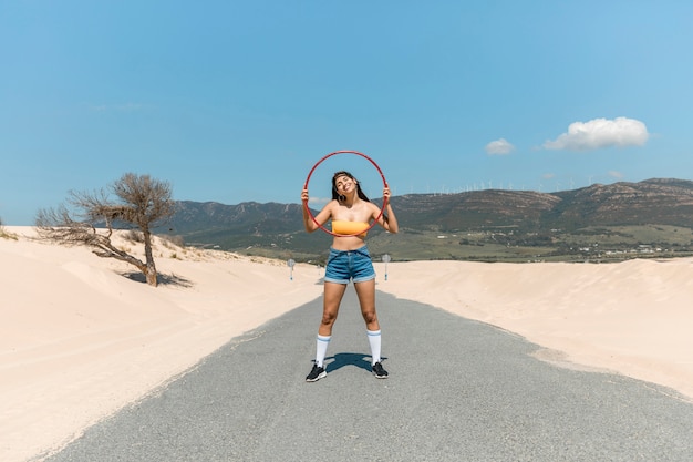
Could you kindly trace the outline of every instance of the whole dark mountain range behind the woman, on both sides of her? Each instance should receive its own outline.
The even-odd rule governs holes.
[[[381,204],[377,199],[374,202]],[[376,244],[386,240],[396,246],[397,242],[412,243],[415,236],[420,239],[412,244],[421,244],[424,240],[421,236],[428,234],[490,233],[497,237],[498,233],[504,233],[513,236],[506,242],[506,247],[519,245],[518,240],[527,247],[539,244],[551,247],[566,244],[568,235],[585,234],[596,227],[670,226],[690,229],[693,226],[693,182],[654,178],[639,183],[596,184],[558,193],[486,189],[447,195],[410,194],[393,197],[392,205],[401,234],[386,237],[382,229],[374,228],[370,237]],[[178,212],[168,228],[159,232],[180,235],[193,245],[279,257],[290,255],[302,259],[316,258],[330,243],[330,236],[324,233],[309,235],[303,230],[300,204],[224,205],[183,201],[178,203]],[[680,237],[676,235],[678,245],[687,245]],[[661,240],[661,236],[658,239]],[[461,245],[469,245],[468,240],[461,238]],[[637,243],[623,243],[631,244]],[[482,240],[474,245],[479,247],[485,244]],[[576,245],[579,243],[576,242]],[[417,247],[406,246],[412,249]],[[400,251],[406,253],[406,246]],[[423,258],[465,258],[465,254],[457,251],[459,249],[448,250],[443,255],[426,255],[421,248],[417,255],[423,255]],[[422,257],[411,255],[403,259],[416,258]]]

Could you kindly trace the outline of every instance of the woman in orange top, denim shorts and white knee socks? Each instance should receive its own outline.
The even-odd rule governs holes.
[[[389,187],[383,189],[383,197],[390,198]],[[377,219],[377,224],[390,233],[397,232],[397,219],[390,201],[381,215],[381,209],[369,201],[356,178],[349,172],[334,174],[332,201],[316,215],[314,220],[307,209],[308,189],[301,193],[301,201],[303,202],[303,224],[308,233],[318,229],[320,227],[318,223],[322,226],[331,219],[332,232],[346,235],[334,236],[330,248],[324,274],[322,321],[318,329],[316,363],[306,377],[306,381],[314,382],[328,374],[324,369],[324,357],[332,337],[332,326],[337,320],[339,306],[350,280],[353,280],[361,305],[361,315],[365,321],[373,374],[379,379],[386,379],[387,372],[383,369],[380,358],[381,331],[375,312],[375,270],[364,239],[372,219]],[[380,218],[379,215],[381,215]]]

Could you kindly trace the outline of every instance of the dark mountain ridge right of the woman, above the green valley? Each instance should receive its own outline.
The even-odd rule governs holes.
[[[559,193],[486,189],[393,198],[404,226],[442,232],[517,227],[523,230],[588,226],[693,225],[693,182],[648,179],[596,184]]]

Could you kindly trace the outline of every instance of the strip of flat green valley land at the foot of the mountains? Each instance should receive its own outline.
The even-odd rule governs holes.
[[[300,234],[300,233],[299,233]],[[244,255],[324,265],[329,236],[299,234],[283,242],[267,238],[245,248],[225,248]],[[308,242],[306,240],[308,239]],[[320,242],[320,243],[318,243]],[[299,245],[301,243],[301,245]],[[402,229],[396,235],[372,232],[371,255],[380,261],[389,254],[394,261],[622,261],[632,258],[672,258],[693,255],[691,228],[669,225],[601,226],[575,232],[546,233],[486,229],[456,233]]]

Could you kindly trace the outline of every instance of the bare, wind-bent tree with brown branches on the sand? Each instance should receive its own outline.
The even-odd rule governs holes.
[[[58,208],[41,209],[37,214],[37,227],[43,238],[63,245],[85,245],[104,258],[116,258],[134,265],[146,277],[147,284],[158,284],[152,254],[152,229],[163,224],[175,213],[170,185],[149,175],[124,174],[108,186],[117,201],[112,201],[103,189],[94,193],[70,192],[68,203]],[[105,233],[96,225],[103,224]],[[115,225],[127,224],[142,232],[145,261],[116,248],[111,242]]]

